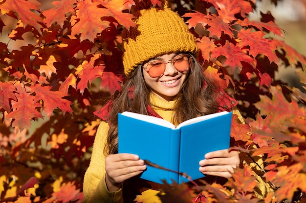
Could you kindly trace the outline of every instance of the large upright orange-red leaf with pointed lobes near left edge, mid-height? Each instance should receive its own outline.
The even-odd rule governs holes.
[[[36,110],[41,105],[34,102],[35,96],[30,92],[25,92],[22,85],[17,90],[18,94],[15,94],[17,102],[12,102],[13,111],[8,113],[6,118],[14,119],[12,127],[19,127],[22,130],[31,126],[32,118],[43,118],[43,115]]]

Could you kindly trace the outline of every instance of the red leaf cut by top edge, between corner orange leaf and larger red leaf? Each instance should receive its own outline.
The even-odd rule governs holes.
[[[74,9],[72,8],[72,4],[75,3],[75,0],[62,0],[62,1],[52,1],[51,4],[55,5],[55,7],[43,11],[43,15],[46,17],[44,22],[48,27],[52,25],[52,23],[57,22],[61,27],[66,20],[66,13],[75,14]]]

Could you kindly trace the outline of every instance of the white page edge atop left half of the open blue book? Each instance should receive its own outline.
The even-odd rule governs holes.
[[[138,120],[146,121],[148,123],[153,123],[153,124],[156,124],[156,125],[159,125],[159,126],[167,127],[167,128],[170,128],[170,129],[175,129],[175,126],[172,123],[170,123],[169,121],[166,121],[162,118],[157,118],[157,117],[154,117],[154,116],[143,115],[143,114],[140,114],[140,113],[134,113],[134,112],[129,112],[129,111],[124,111],[121,114],[125,115],[125,116],[128,116],[128,117],[131,117],[131,118],[138,119]]]

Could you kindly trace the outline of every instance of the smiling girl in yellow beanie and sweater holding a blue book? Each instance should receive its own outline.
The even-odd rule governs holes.
[[[97,114],[105,122],[97,130],[85,175],[84,202],[137,202],[141,193],[152,197],[147,202],[160,202],[157,191],[148,189],[154,185],[136,177],[146,169],[144,161],[137,154],[118,154],[119,112],[153,115],[177,125],[197,116],[230,111],[237,103],[203,74],[195,58],[195,38],[175,12],[169,8],[141,10],[136,24],[137,30],[124,41],[128,79],[122,92]],[[237,151],[213,151],[203,154],[199,171],[229,178],[239,164]]]

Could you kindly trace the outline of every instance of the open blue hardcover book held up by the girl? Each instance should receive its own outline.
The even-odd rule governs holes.
[[[118,152],[137,154],[158,166],[204,177],[199,161],[211,151],[229,148],[232,112],[222,111],[175,126],[161,118],[125,111],[118,114]],[[140,178],[162,184],[189,180],[175,172],[147,166]]]

